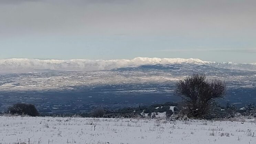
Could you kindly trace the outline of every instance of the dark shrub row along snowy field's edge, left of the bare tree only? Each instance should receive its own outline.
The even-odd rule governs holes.
[[[118,110],[108,110],[103,107],[95,107],[88,113],[39,113],[33,104],[18,103],[9,107],[4,113],[12,115],[28,115],[28,116],[53,116],[53,117],[94,117],[94,118],[134,118],[143,117],[141,113],[155,113],[167,112],[169,115],[173,114],[170,106],[178,106],[178,103],[168,102],[164,104],[154,104],[149,106],[126,107]]]

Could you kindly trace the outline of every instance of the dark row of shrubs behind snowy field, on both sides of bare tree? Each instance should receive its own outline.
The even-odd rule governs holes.
[[[174,111],[170,109],[174,107]],[[171,116],[173,119],[179,119],[184,116],[182,111],[183,103],[168,102],[164,104],[154,104],[150,106],[141,107],[128,107],[121,108],[118,110],[107,110],[103,107],[97,107],[88,113],[39,113],[33,104],[18,103],[9,107],[4,113],[11,115],[28,115],[32,117],[36,116],[52,116],[52,117],[94,117],[94,118],[137,118],[137,117],[148,117],[155,118],[156,115],[162,112],[166,112],[166,117]],[[234,104],[227,104],[226,106],[219,106],[213,108],[213,112],[204,119],[215,119],[215,118],[232,118],[237,115],[256,117],[256,105],[247,104],[245,107],[237,109]],[[145,116],[147,114],[147,116]],[[174,115],[173,115],[174,114]]]

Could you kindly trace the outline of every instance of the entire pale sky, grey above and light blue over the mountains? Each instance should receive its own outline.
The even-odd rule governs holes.
[[[255,0],[0,0],[0,59],[256,62]]]

